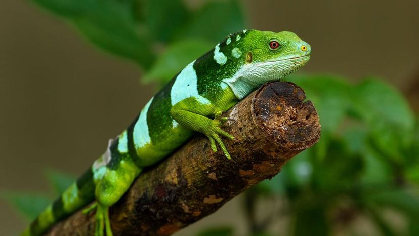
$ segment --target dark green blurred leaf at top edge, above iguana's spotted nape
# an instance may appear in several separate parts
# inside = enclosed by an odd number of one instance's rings
[[[177,38],[198,37],[216,43],[244,28],[244,15],[237,0],[211,1],[194,13]]]

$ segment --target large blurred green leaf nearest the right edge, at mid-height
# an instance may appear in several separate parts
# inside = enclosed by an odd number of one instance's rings
[[[367,79],[354,91],[355,112],[366,122],[372,143],[384,158],[405,162],[413,139],[414,116],[403,96],[379,80]]]

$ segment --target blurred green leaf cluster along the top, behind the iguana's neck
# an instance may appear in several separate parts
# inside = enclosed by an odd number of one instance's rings
[[[206,1],[198,9],[182,0],[32,1],[97,47],[134,61],[146,73],[145,82],[160,86],[226,35],[245,28],[237,0]]]

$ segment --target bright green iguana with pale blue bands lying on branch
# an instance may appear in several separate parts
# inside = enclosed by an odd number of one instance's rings
[[[96,236],[111,236],[108,209],[144,167],[171,154],[195,132],[204,134],[231,159],[221,137],[234,139],[221,117],[250,92],[298,70],[311,47],[295,33],[242,30],[228,35],[175,75],[141,110],[134,122],[110,140],[104,154],[50,204],[22,236],[38,236],[54,223],[96,200]]]

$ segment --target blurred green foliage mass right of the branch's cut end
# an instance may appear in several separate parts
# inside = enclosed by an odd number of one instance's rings
[[[382,235],[405,235],[384,217],[389,209],[405,218],[407,235],[419,235],[419,129],[400,92],[375,78],[356,85],[337,76],[297,74],[286,80],[313,101],[322,137],[278,176],[245,194],[253,201],[285,202],[281,208],[291,219],[285,235],[332,235],[361,216]]]

